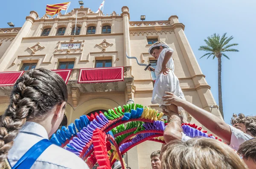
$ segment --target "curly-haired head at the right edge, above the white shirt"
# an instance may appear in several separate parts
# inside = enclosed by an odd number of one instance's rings
[[[245,116],[239,113],[238,117],[231,118],[231,124],[242,132],[256,137],[256,116]]]

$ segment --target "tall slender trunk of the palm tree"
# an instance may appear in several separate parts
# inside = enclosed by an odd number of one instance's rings
[[[218,56],[218,100],[219,100],[219,110],[222,117],[223,114],[223,104],[222,104],[222,90],[221,90],[221,56]]]

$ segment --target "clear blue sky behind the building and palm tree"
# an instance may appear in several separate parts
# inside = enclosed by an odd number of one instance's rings
[[[0,7],[0,28],[7,28],[7,22],[21,27],[29,11],[37,11],[39,16],[43,16],[46,4],[61,2],[68,1],[5,0]],[[68,11],[79,8],[77,0],[71,2]],[[97,11],[101,3],[102,0],[84,0],[84,6],[93,11]],[[230,123],[233,113],[256,115],[256,0],[106,0],[104,13],[116,11],[120,14],[122,6],[129,7],[131,21],[140,20],[140,15],[146,15],[146,21],[168,20],[171,15],[179,17],[180,23],[186,26],[186,36],[217,103],[218,62],[210,58],[199,59],[204,52],[198,48],[213,33],[233,35],[232,42],[239,43],[235,48],[240,52],[227,53],[230,60],[222,59],[224,119]]]

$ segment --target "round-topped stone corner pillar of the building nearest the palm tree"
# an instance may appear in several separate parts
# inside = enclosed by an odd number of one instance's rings
[[[169,20],[170,23],[174,25],[175,36],[180,45],[181,52],[185,59],[186,65],[188,66],[189,73],[198,92],[198,96],[201,100],[202,106],[205,110],[210,112],[210,106],[216,105],[216,102],[212,96],[210,86],[207,84],[205,76],[203,75],[202,70],[198,65],[189,41],[186,38],[183,30],[184,25],[182,23],[179,23],[177,16],[171,16],[169,17]],[[223,119],[218,109],[212,109],[212,113]]]

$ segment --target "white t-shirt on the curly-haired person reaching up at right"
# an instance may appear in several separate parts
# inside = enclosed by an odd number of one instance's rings
[[[239,149],[239,146],[247,140],[252,139],[253,137],[242,132],[241,130],[237,129],[236,127],[233,127],[231,125],[230,130],[232,132],[231,140],[230,140],[230,147],[235,149],[236,151]]]

